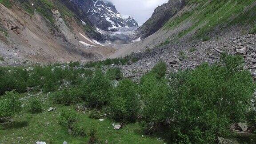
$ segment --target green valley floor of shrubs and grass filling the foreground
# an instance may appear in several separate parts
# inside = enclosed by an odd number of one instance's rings
[[[136,60],[119,61],[0,67],[0,143],[256,142],[242,56],[168,74],[159,61],[138,83],[118,68]]]

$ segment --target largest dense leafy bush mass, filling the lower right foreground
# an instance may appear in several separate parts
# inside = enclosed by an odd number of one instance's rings
[[[171,74],[169,86],[149,72],[141,79],[142,124],[149,132],[167,128],[172,143],[213,143],[227,136],[230,124],[246,121],[255,89],[243,64],[240,56],[222,56],[212,66]]]

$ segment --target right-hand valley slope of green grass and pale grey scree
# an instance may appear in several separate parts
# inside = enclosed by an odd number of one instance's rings
[[[157,8],[158,9],[158,8]],[[238,30],[251,31],[256,24],[255,0],[190,0],[176,12],[163,26],[143,41],[127,45],[120,49],[121,53],[130,53],[137,50],[153,48],[156,45],[169,41],[169,43],[183,43],[191,40],[200,40],[215,36],[232,27]],[[160,24],[160,25],[161,25]],[[147,23],[141,29],[150,29]],[[140,32],[140,30],[138,32]],[[237,30],[237,29],[236,29]],[[146,32],[146,31],[145,31]],[[143,34],[139,35],[143,36]],[[117,52],[119,53],[119,52]]]

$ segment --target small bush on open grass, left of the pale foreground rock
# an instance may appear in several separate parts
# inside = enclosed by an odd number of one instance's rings
[[[67,129],[73,128],[78,121],[77,113],[74,109],[62,109],[60,112],[59,123]]]

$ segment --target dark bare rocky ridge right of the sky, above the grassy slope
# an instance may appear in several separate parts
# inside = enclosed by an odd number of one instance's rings
[[[185,6],[185,0],[169,0],[168,3],[158,6],[151,18],[148,19],[138,30],[136,36],[146,38],[158,31],[166,21],[172,18]]]

